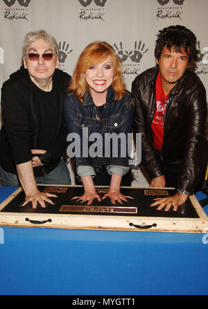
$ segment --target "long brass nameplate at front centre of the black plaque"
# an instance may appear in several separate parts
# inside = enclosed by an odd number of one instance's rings
[[[137,207],[62,205],[60,211],[83,213],[137,213]]]

